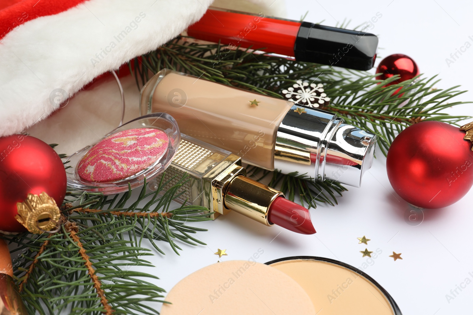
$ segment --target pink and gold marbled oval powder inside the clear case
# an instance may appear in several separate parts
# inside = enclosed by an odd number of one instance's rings
[[[82,157],[79,176],[99,183],[125,179],[161,158],[168,144],[168,136],[159,129],[120,131],[94,145]]]

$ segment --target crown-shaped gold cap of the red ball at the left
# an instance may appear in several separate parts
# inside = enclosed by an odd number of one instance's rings
[[[53,230],[61,218],[56,202],[45,192],[28,194],[24,202],[17,203],[17,209],[15,219],[33,234]]]

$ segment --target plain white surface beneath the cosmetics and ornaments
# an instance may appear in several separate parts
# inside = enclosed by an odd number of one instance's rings
[[[288,18],[298,20],[308,10],[306,21],[325,20],[323,24],[328,26],[335,26],[347,18],[351,19],[350,26],[355,27],[379,12],[382,17],[368,32],[379,36],[380,57],[407,54],[416,60],[425,76],[439,75],[442,81],[438,88],[454,85],[471,88],[473,47],[450,67],[445,61],[466,41],[473,44],[473,5],[470,1],[290,0],[286,6]],[[127,82],[129,86],[134,84],[131,80]],[[116,88],[113,82],[111,84],[112,90]],[[138,96],[128,94],[127,97],[135,98],[133,102],[136,102]],[[75,99],[78,98],[79,94]],[[472,101],[473,93],[465,93],[457,100]],[[464,104],[448,109],[448,113],[473,115],[473,110],[470,104]],[[67,121],[70,123],[73,122]],[[57,140],[58,133],[51,132],[55,126],[49,124],[49,134],[41,138],[61,143]],[[44,135],[39,129],[36,134]],[[169,291],[188,274],[216,263],[219,257],[213,253],[217,248],[227,249],[228,256],[223,256],[222,261],[246,260],[258,248],[264,250],[258,259],[261,263],[293,255],[323,256],[355,267],[370,263],[364,268],[365,272],[392,295],[404,315],[472,314],[473,283],[461,292],[458,290],[459,294],[450,303],[446,298],[446,294],[451,295],[450,290],[465,278],[473,281],[469,275],[469,272],[473,274],[472,199],[473,191],[470,191],[447,208],[424,210],[423,221],[412,226],[404,219],[405,213],[412,208],[394,193],[386,176],[385,158],[377,152],[377,159],[365,174],[361,188],[350,188],[334,207],[323,204],[311,209],[317,230],[315,235],[300,235],[278,226],[268,228],[237,213],[230,213],[216,221],[194,224],[209,229],[197,234],[208,246],[183,244],[184,250],[181,256],[177,256],[166,243],[159,243],[166,255],[156,252],[156,255],[149,256],[157,268],[148,268],[147,271],[160,277],[156,284]],[[363,235],[371,239],[368,246],[358,244],[357,237]],[[379,249],[382,254],[373,260],[362,258],[359,251],[365,247],[370,251]],[[393,251],[402,253],[403,260],[394,262],[388,257]]]

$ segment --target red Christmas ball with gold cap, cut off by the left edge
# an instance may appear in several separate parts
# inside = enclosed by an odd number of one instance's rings
[[[28,194],[38,195],[30,196],[30,199],[36,204],[41,203],[39,210],[35,210],[35,216],[43,221],[40,226],[46,226],[44,220],[48,218],[47,213],[53,207],[53,201],[61,206],[66,185],[64,165],[51,146],[28,135],[0,138],[0,230],[26,230],[15,217],[18,214],[17,203],[25,202]],[[29,208],[30,204],[25,203],[25,208]],[[57,219],[57,216],[54,218]],[[36,222],[30,224],[35,225]]]

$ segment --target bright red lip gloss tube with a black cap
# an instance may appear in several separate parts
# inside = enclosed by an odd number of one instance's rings
[[[297,61],[356,70],[373,67],[378,44],[377,36],[370,33],[219,8],[208,9],[189,26],[187,35],[231,49],[251,47]]]

